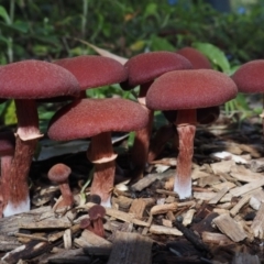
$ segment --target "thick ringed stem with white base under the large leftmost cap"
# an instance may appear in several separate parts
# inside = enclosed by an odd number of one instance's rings
[[[8,199],[4,217],[30,210],[28,175],[38,138],[42,136],[35,101],[15,100],[15,108],[18,132],[10,175],[4,187],[4,197]]]

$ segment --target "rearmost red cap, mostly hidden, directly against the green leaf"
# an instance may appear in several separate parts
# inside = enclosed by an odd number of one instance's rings
[[[178,50],[176,53],[186,57],[193,64],[194,69],[212,68],[209,59],[194,47],[184,47]]]

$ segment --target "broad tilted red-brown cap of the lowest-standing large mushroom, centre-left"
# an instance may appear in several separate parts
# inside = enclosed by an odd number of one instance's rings
[[[50,122],[48,136],[67,141],[110,131],[134,131],[147,123],[147,111],[121,98],[81,99],[58,110]]]

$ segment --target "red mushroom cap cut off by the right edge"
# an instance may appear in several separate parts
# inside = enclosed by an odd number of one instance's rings
[[[243,64],[232,79],[241,92],[264,92],[264,59]]]

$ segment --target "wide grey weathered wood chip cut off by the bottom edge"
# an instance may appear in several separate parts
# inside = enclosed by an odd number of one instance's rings
[[[152,240],[138,233],[116,233],[108,264],[151,264]]]

